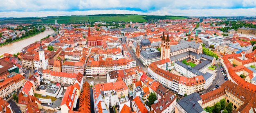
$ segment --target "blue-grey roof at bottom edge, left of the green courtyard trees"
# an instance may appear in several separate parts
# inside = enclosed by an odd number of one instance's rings
[[[202,98],[198,93],[192,93],[177,102],[187,113],[201,113],[204,109],[198,103]]]

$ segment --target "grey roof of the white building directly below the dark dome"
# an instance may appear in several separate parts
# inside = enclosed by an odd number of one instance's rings
[[[161,52],[159,52],[155,48],[146,48],[146,50],[141,50],[140,51],[140,55],[144,59],[152,59],[152,58],[160,57]]]

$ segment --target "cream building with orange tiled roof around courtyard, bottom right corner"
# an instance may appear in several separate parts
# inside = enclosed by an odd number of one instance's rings
[[[214,106],[214,104],[225,98],[227,103],[232,103],[233,109],[238,113],[255,112],[253,108],[255,108],[254,102],[256,100],[252,98],[255,97],[255,92],[229,80],[220,85],[220,88],[205,93],[200,97],[202,98],[202,108]]]

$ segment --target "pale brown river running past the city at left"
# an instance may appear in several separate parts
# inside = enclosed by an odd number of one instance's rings
[[[48,35],[51,35],[52,33],[54,33],[54,30],[52,30],[52,29],[45,30],[43,33],[40,33],[33,37],[2,46],[2,47],[0,47],[0,55],[2,55],[4,53],[16,54],[18,52],[21,52],[22,48],[24,48],[24,47],[28,46],[29,44],[34,43],[36,41],[40,41],[40,39],[43,39],[44,37],[47,37]]]

